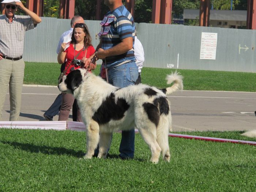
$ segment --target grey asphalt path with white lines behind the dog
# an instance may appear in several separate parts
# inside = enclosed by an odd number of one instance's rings
[[[20,121],[45,121],[44,112],[60,91],[54,86],[23,86]],[[230,131],[256,129],[256,93],[233,91],[177,91],[170,95],[174,131]],[[6,95],[2,121],[10,114]],[[72,114],[72,113],[71,113]],[[72,121],[72,116],[69,120]],[[58,115],[53,118],[58,120]]]

